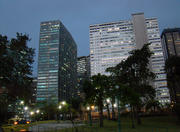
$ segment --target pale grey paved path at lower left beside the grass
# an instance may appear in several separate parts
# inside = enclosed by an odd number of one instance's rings
[[[76,124],[76,126],[81,126],[83,124]],[[38,124],[29,128],[31,132],[45,132],[45,131],[56,131],[63,128],[72,128],[73,125],[71,123],[46,123],[46,124]]]

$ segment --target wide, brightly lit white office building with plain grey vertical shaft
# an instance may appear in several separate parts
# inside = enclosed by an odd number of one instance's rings
[[[116,66],[129,56],[129,52],[151,43],[154,54],[150,68],[157,75],[153,82],[157,99],[169,102],[164,57],[157,18],[145,18],[144,13],[132,14],[131,20],[90,25],[91,76],[108,75],[106,68]]]

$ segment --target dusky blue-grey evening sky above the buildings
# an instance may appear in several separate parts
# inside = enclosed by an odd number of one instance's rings
[[[90,24],[128,20],[137,12],[157,17],[160,31],[180,27],[180,0],[0,0],[0,34],[9,38],[16,32],[29,34],[29,45],[36,49],[36,76],[41,21],[61,20],[82,56],[89,54]]]

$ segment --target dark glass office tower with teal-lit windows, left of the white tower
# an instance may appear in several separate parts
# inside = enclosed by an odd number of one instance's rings
[[[59,21],[41,22],[37,102],[69,100],[77,85],[77,46]]]

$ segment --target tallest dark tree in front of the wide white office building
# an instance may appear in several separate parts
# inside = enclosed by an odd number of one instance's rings
[[[141,121],[138,113],[142,104],[155,96],[155,90],[150,85],[155,74],[149,69],[149,59],[152,55],[149,45],[145,44],[142,49],[131,51],[126,60],[107,69],[115,77],[116,83],[121,83],[126,87],[121,90],[121,101],[130,104],[132,119],[136,114],[139,124]]]

